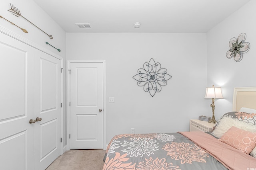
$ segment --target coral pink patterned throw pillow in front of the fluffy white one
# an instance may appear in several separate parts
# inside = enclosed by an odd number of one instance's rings
[[[232,126],[219,140],[244,153],[250,154],[256,145],[256,133]]]

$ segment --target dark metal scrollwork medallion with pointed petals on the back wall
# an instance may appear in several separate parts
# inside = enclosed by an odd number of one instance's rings
[[[161,68],[160,63],[150,59],[148,63],[143,64],[143,68],[138,69],[138,74],[133,78],[138,81],[138,86],[143,86],[144,91],[153,97],[156,92],[162,90],[162,86],[166,86],[166,81],[172,76],[167,74],[166,68]]]

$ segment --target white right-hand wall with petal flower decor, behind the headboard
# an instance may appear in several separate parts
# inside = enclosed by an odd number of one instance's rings
[[[207,33],[207,72],[208,86],[222,87],[224,99],[215,102],[216,119],[232,111],[234,87],[256,86],[256,1],[251,0]],[[232,37],[246,33],[250,50],[240,62],[228,59],[226,52]]]

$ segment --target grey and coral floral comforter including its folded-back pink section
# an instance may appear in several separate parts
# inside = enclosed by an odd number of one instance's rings
[[[225,116],[238,119],[237,114]],[[247,168],[256,169],[256,158],[200,131],[116,135],[106,150],[103,170]]]

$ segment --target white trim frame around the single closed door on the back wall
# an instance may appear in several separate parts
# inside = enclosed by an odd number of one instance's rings
[[[106,150],[106,60],[67,60],[67,150],[70,150],[70,63],[102,63],[103,64],[103,149]]]

